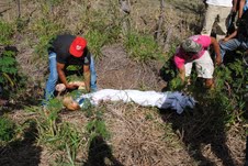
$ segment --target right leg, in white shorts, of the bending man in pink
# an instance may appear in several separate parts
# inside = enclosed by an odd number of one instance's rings
[[[206,88],[213,87],[213,74],[214,74],[214,63],[206,51],[202,57],[195,59],[198,77],[205,79]]]

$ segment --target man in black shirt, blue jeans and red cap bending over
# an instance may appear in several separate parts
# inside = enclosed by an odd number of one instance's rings
[[[58,80],[65,85],[67,89],[77,89],[78,85],[68,84],[65,69],[68,65],[82,66],[86,90],[97,91],[97,74],[94,70],[94,62],[87,47],[87,41],[80,36],[70,34],[58,35],[48,49],[49,57],[49,77],[45,88],[45,101],[54,97],[55,86]]]

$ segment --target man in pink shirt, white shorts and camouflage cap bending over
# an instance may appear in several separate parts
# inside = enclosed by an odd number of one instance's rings
[[[207,51],[211,45],[216,54],[215,63],[219,65],[222,63],[219,45],[214,37],[193,35],[184,40],[177,48],[173,59],[182,82],[185,81],[185,77],[190,76],[192,65],[195,64],[198,77],[205,79],[206,88],[213,88],[214,64]]]

